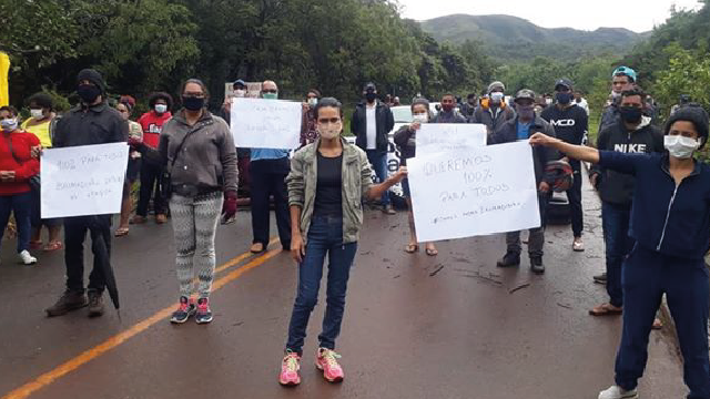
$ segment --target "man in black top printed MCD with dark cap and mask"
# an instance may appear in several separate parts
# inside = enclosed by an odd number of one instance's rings
[[[567,79],[560,79],[555,83],[556,103],[546,108],[540,117],[549,122],[555,127],[557,137],[566,143],[580,145],[587,134],[589,120],[587,111],[578,106],[572,101],[572,83]],[[567,191],[567,200],[572,218],[572,249],[576,252],[585,250],[581,241],[581,232],[584,228],[584,217],[581,208],[581,163],[577,160],[569,161],[574,171],[574,183],[571,188]]]

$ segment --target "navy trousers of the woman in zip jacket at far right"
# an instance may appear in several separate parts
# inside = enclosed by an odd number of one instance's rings
[[[666,294],[683,356],[688,399],[710,399],[708,308],[710,289],[704,260],[663,255],[636,245],[623,263],[623,330],[616,382],[633,389],[643,375],[656,310]]]

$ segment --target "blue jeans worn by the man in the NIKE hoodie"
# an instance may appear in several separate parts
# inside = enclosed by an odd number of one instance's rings
[[[609,303],[623,306],[621,289],[621,265],[633,248],[633,238],[629,237],[631,205],[601,203],[601,228],[607,256],[607,293]]]

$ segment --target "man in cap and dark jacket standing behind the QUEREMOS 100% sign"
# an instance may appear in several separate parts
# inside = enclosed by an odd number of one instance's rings
[[[490,144],[513,143],[518,140],[528,140],[532,134],[541,132],[555,137],[555,129],[545,120],[535,115],[535,92],[528,89],[520,90],[515,96],[518,110],[515,119],[505,122],[489,136]],[[528,238],[528,255],[530,256],[530,269],[535,274],[545,273],[542,264],[542,248],[545,246],[545,211],[551,182],[546,180],[545,168],[550,161],[559,160],[559,154],[551,147],[534,147],[532,162],[535,166],[535,182],[538,186],[538,205],[540,209],[541,226],[530,228]],[[498,267],[511,267],[520,265],[520,232],[506,233],[507,250],[498,260]]]

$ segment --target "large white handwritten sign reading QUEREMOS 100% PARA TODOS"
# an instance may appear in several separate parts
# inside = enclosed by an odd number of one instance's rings
[[[527,141],[417,154],[407,168],[420,242],[540,226]]]

